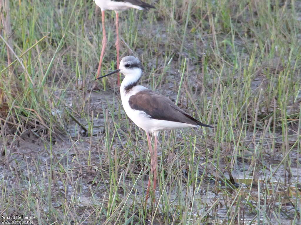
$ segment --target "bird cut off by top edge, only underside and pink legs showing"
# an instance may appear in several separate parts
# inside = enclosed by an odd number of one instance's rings
[[[100,53],[100,58],[99,58],[99,63],[98,63],[98,69],[97,69],[97,74],[96,78],[99,77],[100,74],[100,69],[101,69],[101,63],[102,59],[104,57],[104,50],[106,49],[107,46],[107,38],[106,38],[106,30],[104,28],[104,11],[105,10],[114,10],[116,13],[116,21],[115,21],[115,26],[116,26],[116,51],[117,51],[117,68],[119,68],[119,32],[118,32],[118,11],[123,11],[129,8],[135,8],[139,10],[144,10],[148,8],[155,8],[154,6],[147,4],[143,1],[140,0],[94,0],[95,4],[101,8],[101,20],[102,20],[102,47],[101,47],[101,53]],[[117,85],[120,85],[120,78],[119,78],[119,73],[117,73]],[[97,85],[92,89],[97,89]]]

